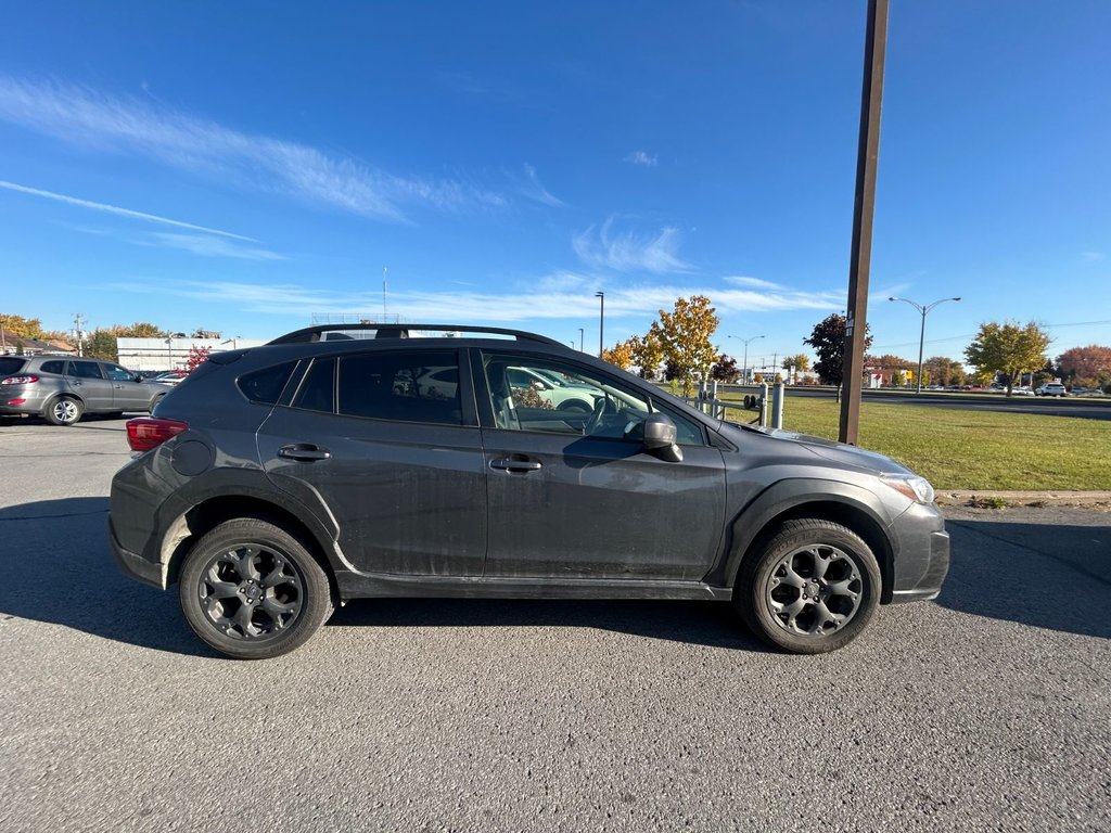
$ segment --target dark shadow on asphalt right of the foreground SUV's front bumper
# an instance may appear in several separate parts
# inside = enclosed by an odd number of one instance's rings
[[[1111,526],[948,520],[953,560],[938,604],[1111,639]]]

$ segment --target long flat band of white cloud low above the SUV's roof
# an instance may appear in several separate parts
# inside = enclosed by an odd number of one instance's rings
[[[391,312],[410,321],[452,321],[458,323],[496,323],[524,320],[590,319],[598,312],[592,293],[581,291],[579,284],[560,288],[560,282],[572,275],[560,273],[550,279],[530,282],[530,289],[516,293],[484,293],[472,291],[391,292]],[[591,285],[600,285],[591,279]],[[131,292],[150,292],[149,281],[118,283],[113,289]],[[160,281],[157,291],[163,295],[203,299],[213,304],[227,304],[252,313],[304,315],[312,312],[346,312],[377,310],[381,295],[377,292],[342,293],[309,289],[299,284],[262,285],[241,282],[178,282]],[[654,317],[661,309],[670,309],[679,297],[708,295],[719,313],[752,313],[775,310],[837,310],[844,305],[843,293],[797,292],[781,290],[763,292],[711,285],[708,283],[680,285],[639,284],[605,290],[605,314]]]

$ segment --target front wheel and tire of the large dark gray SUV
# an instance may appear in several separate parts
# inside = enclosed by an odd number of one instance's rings
[[[741,564],[733,604],[764,642],[792,653],[835,651],[868,625],[880,601],[868,544],[832,521],[787,521]]]

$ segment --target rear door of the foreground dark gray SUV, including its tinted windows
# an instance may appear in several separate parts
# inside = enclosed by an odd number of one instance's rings
[[[482,574],[482,438],[459,369],[458,350],[321,355],[260,428],[271,480],[323,500],[356,570]]]

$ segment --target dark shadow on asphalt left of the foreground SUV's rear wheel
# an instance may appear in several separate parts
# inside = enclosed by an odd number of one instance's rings
[[[0,616],[72,628],[157,651],[216,656],[173,592],[124,578],[108,545],[108,499],[0,508]]]

